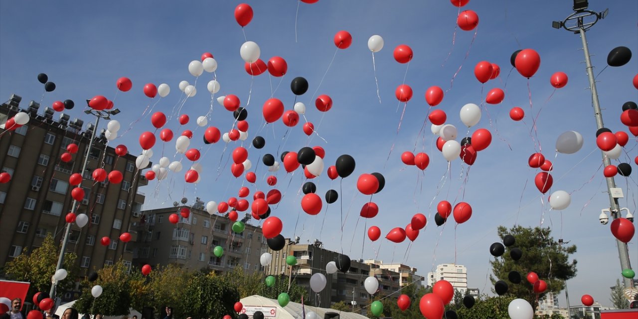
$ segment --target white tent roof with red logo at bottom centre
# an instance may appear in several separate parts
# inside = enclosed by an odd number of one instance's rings
[[[279,306],[279,302],[274,299],[269,299],[266,297],[262,297],[260,295],[251,295],[246,298],[242,298],[241,300],[244,309],[242,312],[245,312],[248,315],[248,318],[252,318],[251,315],[255,313],[255,311],[262,311],[263,317],[265,319],[302,319],[302,308],[301,304],[297,302],[288,302],[285,307]],[[311,306],[304,306],[306,310],[306,314],[309,311],[315,311],[319,318],[323,318],[323,315],[327,312],[339,313],[339,319],[367,319],[366,316],[359,315],[358,313],[348,313],[345,311],[338,311],[335,309],[327,309],[327,308],[316,308]]]

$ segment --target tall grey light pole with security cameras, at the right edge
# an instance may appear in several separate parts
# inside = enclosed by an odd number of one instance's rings
[[[600,130],[601,128],[604,128],[604,124],[602,122],[600,104],[598,103],[598,91],[596,89],[596,81],[593,75],[593,66],[591,66],[590,50],[587,45],[587,38],[585,36],[585,33],[588,29],[590,29],[590,27],[593,27],[594,24],[598,22],[598,20],[605,19],[605,17],[607,17],[607,12],[609,12],[609,9],[605,9],[605,11],[597,13],[587,10],[587,6],[588,1],[586,0],[574,0],[574,13],[569,15],[563,21],[554,21],[552,23],[552,27],[556,29],[560,29],[561,27],[563,27],[567,31],[573,32],[575,34],[581,34],[582,50],[585,54],[585,63],[587,66],[585,70],[587,71],[587,76],[590,80],[591,101],[594,108],[596,126],[598,130]],[[611,161],[607,156],[605,156],[605,153],[601,151],[601,154],[602,161],[605,167],[611,165]],[[621,189],[616,188],[614,177],[605,177],[605,179],[607,181],[607,193],[609,195],[609,211],[611,212],[612,219],[616,219],[620,217],[618,198],[622,197],[622,191]],[[617,195],[618,191],[620,195]],[[616,239],[616,246],[618,247],[618,256],[620,259],[621,271],[623,269],[631,269],[627,244]],[[623,277],[623,283],[625,285],[625,289],[633,287],[632,279],[630,278]]]

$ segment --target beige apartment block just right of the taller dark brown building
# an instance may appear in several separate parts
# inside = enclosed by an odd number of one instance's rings
[[[250,215],[242,220],[245,229],[238,234],[232,230],[233,221],[218,214],[211,216],[199,198],[193,205],[184,205],[186,202],[184,198],[174,207],[142,211],[142,219],[133,225],[140,234],[137,242],[131,243],[135,265],[173,263],[215,271],[240,266],[244,271],[260,271],[260,256],[268,247],[262,228],[249,224]],[[179,217],[176,224],[170,222],[172,214]],[[217,246],[223,248],[221,257],[214,255]]]

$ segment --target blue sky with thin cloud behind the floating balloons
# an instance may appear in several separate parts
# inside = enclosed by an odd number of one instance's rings
[[[570,1],[516,4],[470,1],[463,9],[474,10],[479,15],[476,38],[472,41],[474,31],[456,29],[454,45],[457,8],[448,1],[322,0],[315,4],[300,3],[299,8],[295,1],[248,3],[255,17],[244,28],[246,38],[258,43],[264,61],[273,56],[286,60],[288,72],[283,78],[269,77],[267,73],[251,78],[244,71],[244,61],[239,56],[244,34],[233,15],[239,4],[236,1],[3,1],[0,3],[0,97],[8,100],[10,94],[18,94],[23,97],[22,107],[26,107],[29,100],[50,106],[53,101],[71,99],[76,103],[68,112],[71,118],[90,122],[93,120],[82,113],[83,100],[98,94],[110,100],[117,96],[115,107],[122,111],[117,115],[122,124],[121,132],[127,130],[131,122],[138,119],[140,122],[112,145],[126,144],[133,154],[141,151],[137,143],[140,133],[154,130],[150,116],[140,119],[149,105],[154,105],[153,112],[169,115],[165,127],[174,130],[176,135],[184,129],[193,130],[195,137],[191,147],[201,148],[203,155],[200,160],[204,166],[202,181],[186,185],[184,170],[170,174],[159,184],[150,182],[140,189],[146,193],[145,208],[171,205],[182,197],[192,200],[197,196],[206,202],[221,202],[237,197],[242,185],[251,189],[251,197],[256,190],[267,192],[272,187],[265,183],[263,154],[279,158],[278,152],[320,145],[326,151],[326,168],[334,165],[341,154],[350,154],[357,162],[355,172],[343,179],[341,185],[339,179],[330,181],[325,172],[314,180],[322,198],[330,188],[339,190],[341,186],[343,189],[339,202],[329,205],[327,211],[324,202],[317,216],[309,216],[300,209],[302,172],[286,174],[282,167],[274,173],[279,179],[275,187],[284,197],[273,214],[283,219],[286,237],[299,235],[302,242],[320,238],[326,248],[343,250],[352,258],[373,258],[378,252],[377,259],[412,265],[424,276],[439,263],[456,261],[468,267],[471,287],[489,292],[486,279],[491,258],[489,245],[498,241],[496,227],[512,226],[516,222],[523,226],[549,226],[554,238],[562,238],[578,247],[574,255],[578,260],[578,274],[568,282],[572,304],[579,304],[584,293],[593,295],[601,304],[611,303],[607,287],[620,278],[621,269],[609,225],[598,225],[597,220],[600,209],[609,207],[609,202],[604,193],[600,152],[595,145],[596,127],[591,95],[586,90],[588,80],[582,63],[581,40],[575,34],[551,28],[552,20],[561,20],[570,14]],[[609,17],[587,33],[596,74],[606,65],[607,53],[612,48],[623,45],[634,54],[638,52],[635,15],[638,4],[590,1],[590,8],[595,11],[602,11],[606,6],[609,6]],[[352,45],[346,50],[337,50],[332,42],[339,30],[352,34]],[[373,34],[380,34],[385,41],[383,50],[375,54],[382,103],[376,95],[373,58],[367,49],[367,40]],[[409,45],[414,52],[407,71],[407,64],[399,64],[392,57],[392,50],[400,44]],[[529,81],[529,91],[528,80],[512,70],[509,63],[512,52],[522,48],[533,48],[541,57],[540,69]],[[204,52],[211,52],[219,67],[215,75],[204,73],[196,79],[189,74],[188,64]],[[500,77],[481,85],[473,69],[484,60],[500,65],[501,73]],[[461,70],[450,85],[459,67]],[[549,77],[556,71],[567,73],[569,82],[554,92]],[[638,91],[631,84],[637,71],[634,57],[621,68],[607,68],[597,78],[605,126],[612,131],[627,131],[619,115],[625,101],[638,100]],[[56,91],[43,94],[43,87],[36,79],[38,73],[47,73],[57,84]],[[228,161],[228,155],[242,145],[241,141],[204,145],[204,129],[194,122],[211,107],[206,84],[214,76],[221,84],[221,91],[215,97],[235,94],[242,107],[248,109],[249,138],[243,145],[248,148],[256,135],[266,139],[263,149],[249,149],[249,159],[258,176],[254,185],[230,174],[232,162]],[[306,118],[315,124],[323,139],[306,137],[301,124],[287,132],[281,121],[262,128],[264,101],[273,96],[283,101],[286,110],[292,109],[295,96],[290,92],[290,81],[299,76],[308,80],[309,90],[297,101],[306,104]],[[117,93],[115,81],[119,77],[131,78],[133,89]],[[182,80],[190,84],[197,81],[197,95],[185,102],[178,88]],[[403,82],[412,87],[414,96],[406,105],[397,133],[403,103],[396,100],[394,91]],[[161,100],[158,97],[151,100],[142,93],[146,83],[166,83],[171,92]],[[466,103],[480,105],[487,91],[494,87],[505,89],[503,103],[483,104],[481,121],[469,130],[471,135],[477,128],[487,128],[493,134],[491,146],[479,152],[469,171],[460,159],[452,161],[450,172],[447,171],[447,161],[434,144],[436,137],[431,134],[431,123],[427,122],[420,132],[429,108],[424,93],[432,85],[446,91],[437,108],[447,112],[447,123],[457,127],[457,140],[468,131],[459,120],[460,108]],[[334,101],[332,109],[325,114],[314,107],[313,97],[318,94],[328,94]],[[182,102],[181,113],[191,117],[186,126],[179,126],[177,118],[170,116],[175,105]],[[514,106],[525,110],[524,121],[509,119],[508,112]],[[212,108],[209,125],[228,131],[233,123],[232,114],[216,102]],[[533,185],[537,170],[526,165],[528,156],[537,151],[529,132],[531,114],[539,111],[537,140],[545,157],[554,163],[551,191],[562,189],[572,193],[572,204],[561,212],[549,211],[546,204],[545,209],[542,207],[540,193]],[[556,156],[556,138],[569,130],[582,134],[584,146],[575,154]],[[536,135],[534,137],[536,139]],[[174,140],[162,144],[158,139],[153,148],[154,163],[161,156],[168,156],[182,160],[188,168],[188,159],[182,159],[181,154],[175,156]],[[638,154],[636,146],[632,138],[620,159],[632,163]],[[401,163],[401,153],[413,150],[429,155],[431,163],[425,172]],[[625,193],[621,207],[635,213],[636,168],[632,166],[632,177],[618,177],[616,184]],[[381,172],[386,184],[383,191],[373,196],[380,213],[368,220],[367,226],[380,226],[385,235],[393,227],[407,225],[416,212],[428,217],[426,230],[422,230],[408,254],[405,253],[407,242],[394,244],[383,239],[374,244],[366,239],[362,249],[366,221],[358,217],[358,212],[370,198],[357,191],[356,182],[360,174],[371,172]],[[464,182],[466,176],[468,179]],[[551,191],[545,195],[545,203]],[[472,218],[456,228],[451,222],[437,228],[433,220],[436,204],[440,200],[459,202],[461,198],[473,207]],[[347,216],[343,236],[338,226],[341,206],[344,218]],[[381,241],[383,244],[379,246]],[[629,248],[635,267],[638,263],[635,238]],[[561,306],[565,306],[563,301],[561,295]]]

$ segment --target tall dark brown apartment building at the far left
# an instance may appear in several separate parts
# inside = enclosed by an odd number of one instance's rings
[[[52,109],[47,107],[38,113],[40,104],[34,101],[28,108],[20,108],[20,100],[14,94],[0,105],[0,167],[11,175],[9,182],[0,184],[0,265],[25,249],[33,251],[47,234],[52,234],[56,242],[62,241],[65,216],[73,203],[70,193],[75,186],[70,185],[69,177],[74,173],[84,177],[79,185],[84,198],[78,202],[77,214],[87,214],[89,222],[82,228],[73,223],[66,251],[77,254],[82,269],[100,269],[120,259],[130,265],[130,246],[118,242],[118,238],[130,232],[135,240],[137,234],[130,225],[140,219],[144,203],[138,187],[147,184],[135,167],[135,156],[117,156],[103,133],[96,134],[88,150],[91,134],[98,130],[94,124],[83,130],[80,119],[70,121],[63,113],[54,120]],[[6,121],[20,111],[29,114],[29,122],[16,130],[6,130]],[[72,143],[78,145],[78,151],[65,163],[61,155]],[[80,172],[85,156],[89,158],[87,170]],[[122,182],[95,182],[92,172],[96,168],[118,170]],[[108,246],[100,244],[102,237],[110,238]]]

